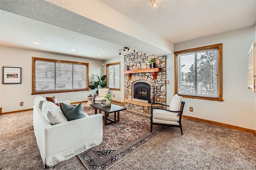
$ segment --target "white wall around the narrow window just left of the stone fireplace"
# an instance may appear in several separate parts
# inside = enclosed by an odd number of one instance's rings
[[[120,91],[117,90],[110,90],[110,95],[112,100],[124,102],[124,56],[114,57],[112,59],[105,60],[105,66],[109,63],[116,63],[120,62]],[[106,74],[106,67],[105,67],[105,74]],[[113,97],[115,95],[115,97]]]

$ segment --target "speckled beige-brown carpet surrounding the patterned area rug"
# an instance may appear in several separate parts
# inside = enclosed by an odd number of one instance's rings
[[[183,121],[184,135],[171,127],[110,169],[256,169],[254,134]],[[44,169],[33,131],[33,111],[0,115],[0,170]],[[84,170],[75,156],[49,169]]]

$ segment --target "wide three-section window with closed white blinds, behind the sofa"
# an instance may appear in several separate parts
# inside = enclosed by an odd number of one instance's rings
[[[88,63],[32,60],[32,94],[88,90]]]

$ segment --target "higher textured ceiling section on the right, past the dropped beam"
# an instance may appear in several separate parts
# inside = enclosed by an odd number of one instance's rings
[[[245,28],[256,22],[256,0],[156,0],[156,9],[149,0],[100,2],[173,43]]]

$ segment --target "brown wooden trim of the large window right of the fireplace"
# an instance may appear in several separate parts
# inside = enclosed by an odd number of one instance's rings
[[[184,53],[192,53],[192,52],[198,52],[202,50],[211,50],[211,49],[218,49],[219,50],[219,90],[220,95],[219,98],[210,98],[210,97],[198,97],[198,96],[188,96],[188,95],[180,95],[178,94],[178,55],[184,54]],[[214,45],[208,45],[204,47],[197,47],[192,49],[185,49],[182,51],[175,51],[174,52],[174,76],[175,76],[175,85],[174,85],[174,94],[178,94],[185,98],[192,98],[192,99],[203,99],[203,100],[211,100],[211,101],[223,101],[222,99],[222,43],[214,44]]]

